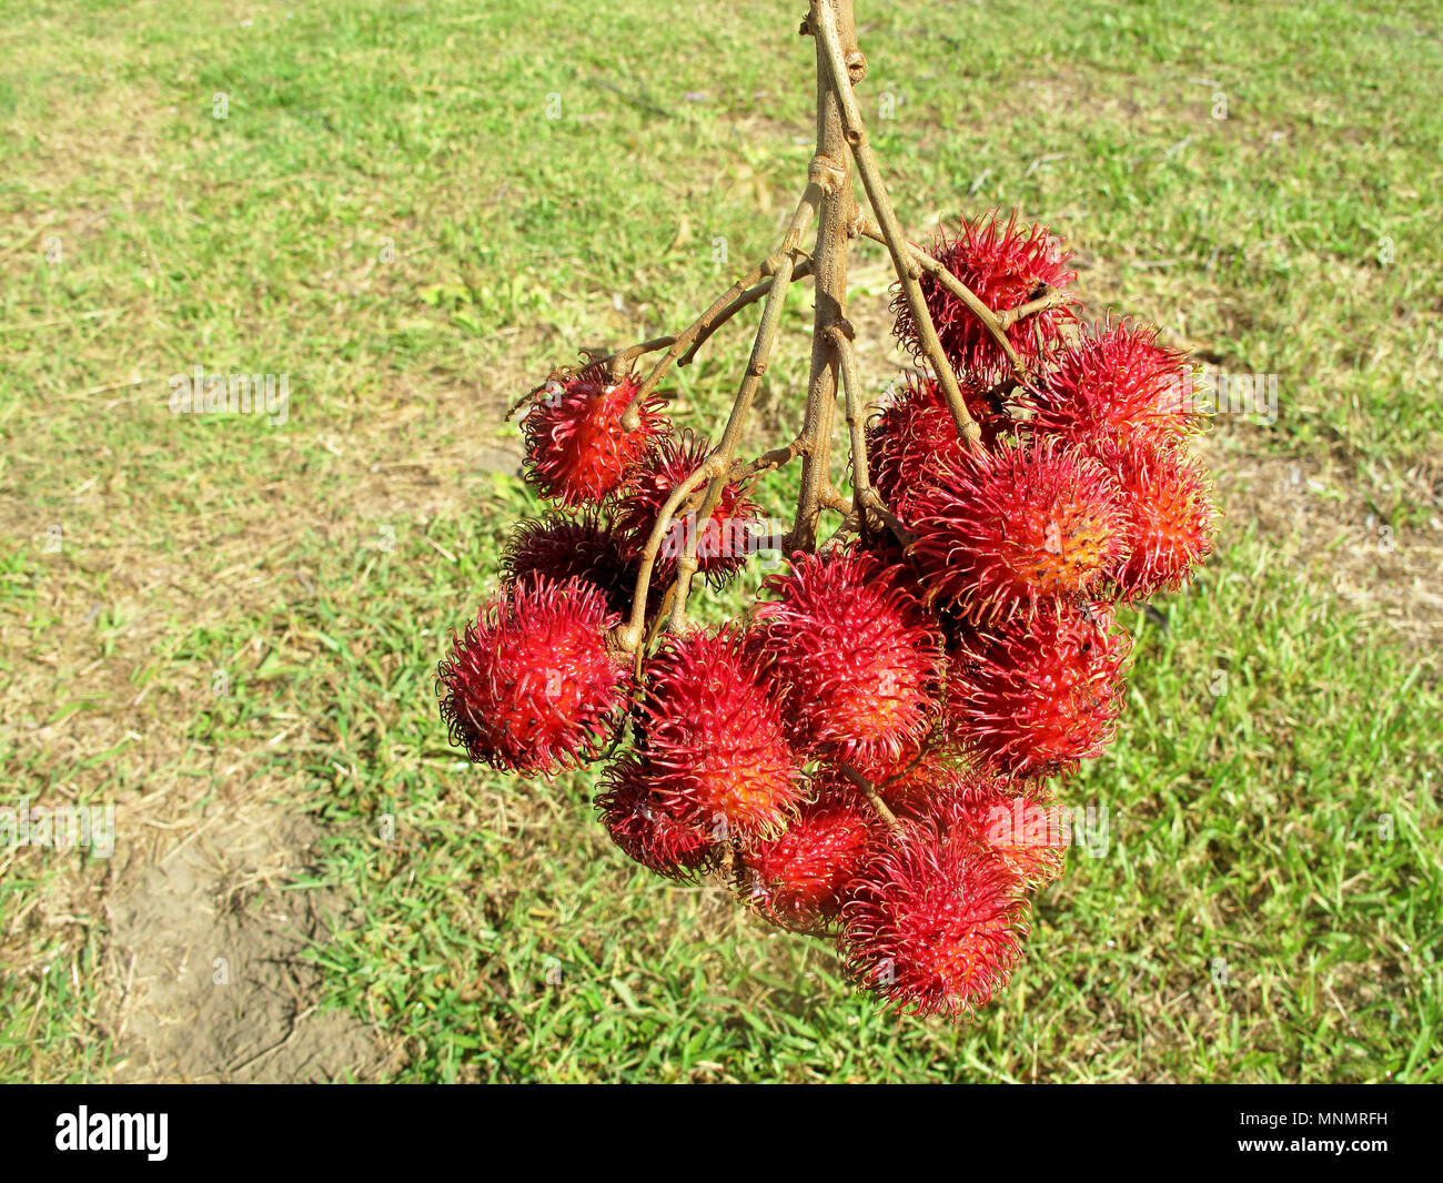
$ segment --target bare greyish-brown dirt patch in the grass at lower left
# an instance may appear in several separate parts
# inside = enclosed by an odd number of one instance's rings
[[[313,870],[316,827],[270,808],[214,814],[169,854],[133,854],[107,903],[111,1027],[124,1082],[374,1079],[380,1033],[315,1003],[345,902],[286,890]]]

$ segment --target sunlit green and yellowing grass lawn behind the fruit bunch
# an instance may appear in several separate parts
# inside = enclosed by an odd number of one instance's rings
[[[1375,545],[1440,541],[1433,6],[859,3],[913,235],[1017,205],[1095,310],[1278,377],[1276,424],[1219,418],[1219,553],[1133,622],[1123,730],[1066,788],[1107,856],[994,1007],[879,1014],[828,951],[629,868],[586,776],[462,766],[434,710],[535,511],[508,400],[684,322],[791,209],[810,48],[775,3],[0,6],[4,782],[114,801],[128,850],[313,812],[297,890],[354,900],[317,1001],[398,1043],[395,1079],[1437,1079],[1439,607]],[[876,250],[857,277],[880,390]],[[743,336],[681,372],[696,426]],[[287,421],[172,415],[196,365],[289,375]],[[1293,463],[1326,467],[1302,505],[1229,480]],[[0,851],[0,1078],[117,1070],[124,868]]]

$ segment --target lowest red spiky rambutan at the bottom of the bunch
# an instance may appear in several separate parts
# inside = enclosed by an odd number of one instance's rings
[[[843,905],[851,977],[903,1014],[970,1014],[1006,985],[1027,933],[1023,884],[935,819],[879,843]]]

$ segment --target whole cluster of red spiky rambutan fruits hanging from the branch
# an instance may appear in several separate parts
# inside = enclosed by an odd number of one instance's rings
[[[631,858],[717,874],[768,922],[837,939],[887,1003],[957,1016],[1006,984],[1033,893],[1062,873],[1056,785],[1123,707],[1117,606],[1177,589],[1216,514],[1188,452],[1186,359],[1153,329],[1081,323],[1049,231],[984,216],[932,255],[1010,349],[924,277],[981,427],[970,447],[899,296],[919,365],[864,436],[890,529],[861,516],[857,537],[791,554],[746,619],[665,632],[681,551],[658,542],[697,529],[704,503],[703,528],[732,540],[759,509],[742,480],[706,501],[701,482],[662,521],[711,447],[635,375],[558,372],[522,423],[553,506],[517,527],[439,692],[470,759],[527,775],[603,760],[596,808]],[[696,571],[722,584],[746,550],[703,547]],[[642,643],[623,619],[645,622]]]

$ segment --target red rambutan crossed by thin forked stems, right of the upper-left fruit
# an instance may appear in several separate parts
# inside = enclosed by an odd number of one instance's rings
[[[706,440],[683,431],[680,439],[659,440],[641,460],[616,509],[616,532],[632,560],[639,558],[646,548],[657,518],[672,491],[701,467],[710,453],[711,447]],[[657,555],[654,581],[665,586],[677,577],[677,560],[687,545],[688,531],[696,529],[697,570],[713,586],[726,583],[746,566],[750,550],[747,540],[760,514],[742,485],[724,485],[704,527],[696,522],[694,515],[672,522]]]

